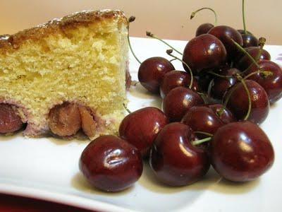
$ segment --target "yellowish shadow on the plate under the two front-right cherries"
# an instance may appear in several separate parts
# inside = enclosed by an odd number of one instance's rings
[[[154,176],[154,173],[149,167],[149,164],[146,163],[144,165],[142,177],[139,179],[138,183],[142,187],[145,187],[152,192],[161,194],[202,190],[210,190],[222,194],[243,194],[254,189],[259,183],[259,179],[252,182],[243,183],[230,182],[220,177],[211,167],[207,175],[205,175],[200,181],[195,182],[194,184],[190,184],[184,187],[170,187],[159,182]]]

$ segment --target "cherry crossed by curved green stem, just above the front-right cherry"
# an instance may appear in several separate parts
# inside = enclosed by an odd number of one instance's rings
[[[250,117],[247,120],[255,124],[261,124],[269,114],[269,100],[266,91],[255,81],[246,80],[245,83],[250,91],[252,102]],[[225,98],[230,92],[232,92],[232,94],[228,100],[227,107],[231,110],[236,119],[243,120],[249,107],[247,92],[242,83],[238,83],[235,87],[229,89]]]

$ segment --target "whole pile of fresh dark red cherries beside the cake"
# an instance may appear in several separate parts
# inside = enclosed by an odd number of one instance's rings
[[[264,174],[274,163],[274,149],[259,124],[269,105],[282,97],[282,71],[270,61],[264,42],[247,30],[205,23],[183,53],[174,49],[183,59],[167,51],[185,71],[175,70],[163,57],[140,62],[139,81],[161,95],[163,111],[145,107],[130,112],[119,137],[92,141],[80,158],[82,173],[107,192],[136,182],[142,158],[149,158],[157,179],[171,186],[196,182],[210,165],[234,182]]]

